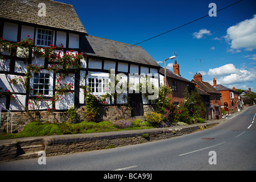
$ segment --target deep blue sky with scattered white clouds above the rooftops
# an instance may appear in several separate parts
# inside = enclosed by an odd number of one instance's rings
[[[55,1],[73,5],[89,35],[139,43],[162,67],[165,59],[177,55],[180,75],[187,80],[201,73],[211,85],[215,77],[217,84],[256,92],[255,0],[243,0],[224,10],[240,0]],[[221,10],[216,16],[212,16],[210,3]],[[160,36],[147,40],[156,35]],[[167,60],[171,71],[173,64],[174,60]]]

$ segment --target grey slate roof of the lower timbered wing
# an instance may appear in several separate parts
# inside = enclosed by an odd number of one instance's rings
[[[82,39],[82,50],[87,55],[160,67],[141,46],[134,46],[96,36],[84,36]]]

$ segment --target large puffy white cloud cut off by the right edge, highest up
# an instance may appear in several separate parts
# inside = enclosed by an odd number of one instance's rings
[[[252,19],[246,19],[229,27],[226,40],[231,41],[232,49],[245,48],[246,51],[256,49],[256,14]]]

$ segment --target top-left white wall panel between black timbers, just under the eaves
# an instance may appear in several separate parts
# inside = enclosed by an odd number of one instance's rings
[[[3,26],[3,39],[17,42],[18,24],[5,22]]]

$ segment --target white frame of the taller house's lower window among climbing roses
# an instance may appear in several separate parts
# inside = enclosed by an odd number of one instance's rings
[[[48,84],[46,84],[45,82],[44,83],[40,83],[40,78],[39,78],[39,82],[35,82],[35,74],[39,74],[39,77],[40,77],[40,74],[49,74],[49,78],[47,78],[47,80],[49,81]],[[46,78],[43,78],[43,81],[45,81]],[[39,91],[39,87],[38,88],[35,88],[35,85],[48,85],[48,94],[45,94],[44,91],[45,89],[42,88],[40,90],[43,90],[43,93],[42,95],[44,97],[52,97],[52,91],[53,91],[53,72],[49,72],[49,71],[46,71],[46,70],[42,70],[40,71],[39,73],[32,73],[32,77],[31,77],[31,88],[33,89],[32,90],[32,96],[36,96],[35,93],[39,93],[39,92],[36,92],[36,90]]]

